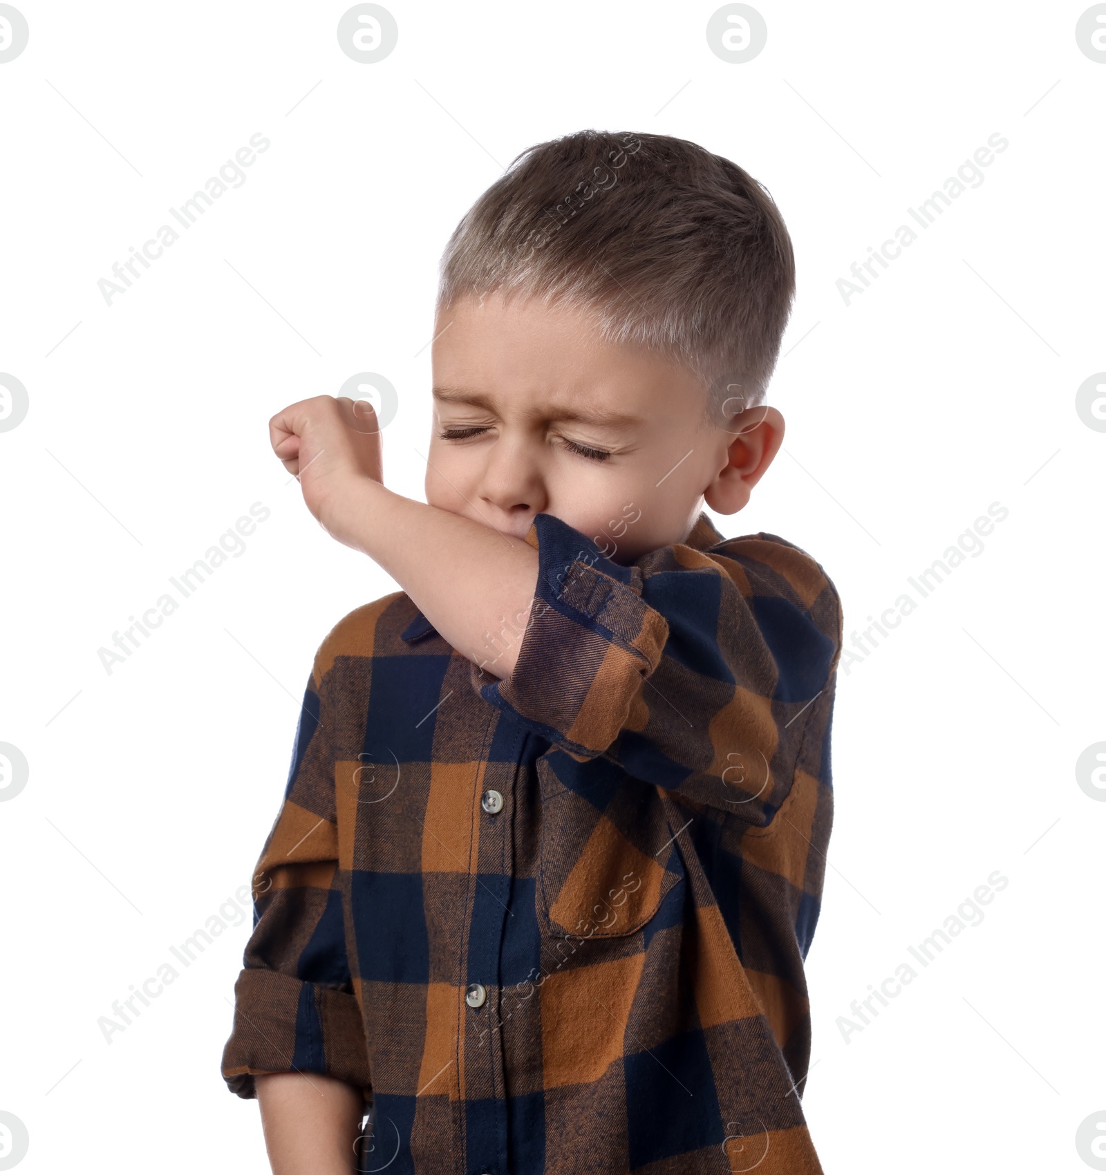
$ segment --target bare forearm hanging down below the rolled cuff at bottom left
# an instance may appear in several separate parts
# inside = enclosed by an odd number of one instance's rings
[[[254,1077],[273,1175],[353,1175],[361,1090],[317,1073]]]

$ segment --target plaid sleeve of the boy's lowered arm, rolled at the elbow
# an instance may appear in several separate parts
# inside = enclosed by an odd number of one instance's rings
[[[370,1095],[346,948],[330,721],[316,658],[284,798],[253,878],[253,933],[222,1055],[223,1079],[240,1097],[256,1096],[261,1073],[324,1074]]]

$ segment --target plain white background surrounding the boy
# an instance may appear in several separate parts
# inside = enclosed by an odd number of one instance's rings
[[[0,740],[31,774],[0,804],[0,1109],[29,1130],[21,1175],[268,1170],[257,1104],[219,1072],[248,918],[110,1045],[98,1027],[248,885],[314,652],[396,586],[310,518],[267,422],[382,372],[386,482],[422,498],[441,250],[518,152],[584,127],[723,154],[790,229],[785,445],[723,533],[810,551],[847,634],[1010,511],[839,678],[807,960],[825,1169],[1090,1170],[1106,804],[1074,766],[1106,739],[1106,434],[1075,390],[1106,369],[1106,65],[1075,42],[1087,5],[758,0],[768,45],[744,65],[706,43],[716,4],[391,0],[375,65],[338,48],[347,4],[18,7],[0,370],[29,411],[0,434]],[[244,184],[107,306],[98,280],[255,132],[272,147]],[[846,306],[850,264],[996,132],[985,181]],[[108,674],[98,650],[254,502],[272,516],[246,553]],[[850,1002],[994,870],[985,920],[846,1043]]]

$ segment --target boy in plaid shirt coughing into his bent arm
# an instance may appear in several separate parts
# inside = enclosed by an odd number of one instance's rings
[[[793,288],[740,168],[581,132],[449,241],[427,504],[383,486],[363,404],[270,421],[403,589],[319,649],[254,878],[222,1073],[276,1175],[820,1171],[840,603],[702,512],[779,450]]]

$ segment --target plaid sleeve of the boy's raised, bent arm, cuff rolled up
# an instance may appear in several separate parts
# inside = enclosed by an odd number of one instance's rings
[[[766,824],[811,721],[827,733],[842,615],[820,565],[762,533],[623,566],[547,513],[527,542],[531,613],[510,678],[474,671],[482,697],[578,763]]]

